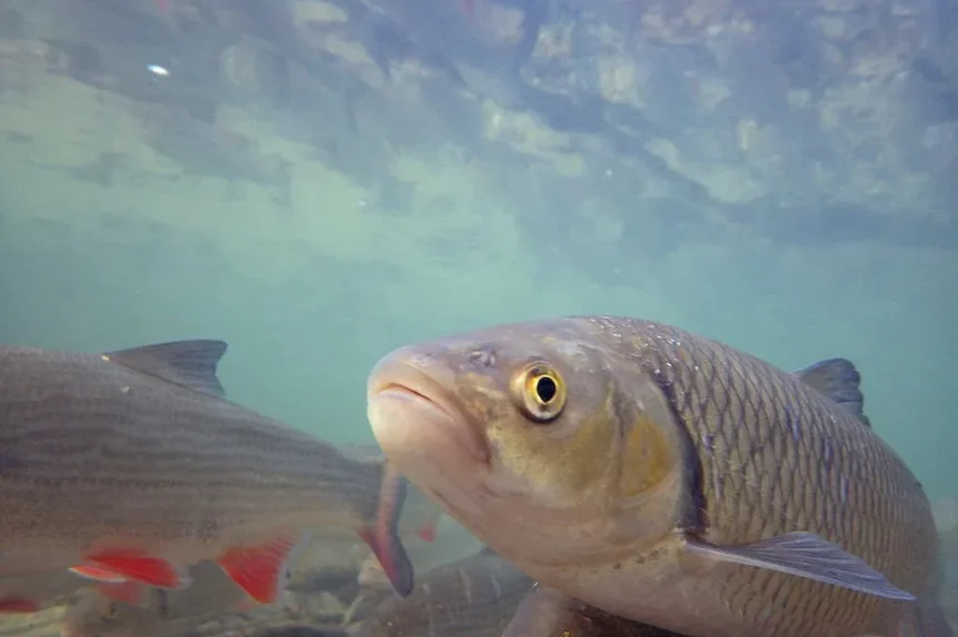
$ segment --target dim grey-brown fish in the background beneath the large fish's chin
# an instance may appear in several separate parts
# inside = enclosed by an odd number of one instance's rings
[[[482,550],[423,574],[409,597],[380,601],[353,637],[499,637],[532,585]]]

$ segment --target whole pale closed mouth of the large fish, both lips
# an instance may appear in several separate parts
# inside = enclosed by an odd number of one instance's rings
[[[381,361],[370,374],[367,400],[369,422],[387,455],[391,443],[437,443],[440,447],[451,444],[471,459],[489,464],[491,454],[479,428],[448,390],[418,367],[402,361]],[[442,439],[436,441],[433,434]]]

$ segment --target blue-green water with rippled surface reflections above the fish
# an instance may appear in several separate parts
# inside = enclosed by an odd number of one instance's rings
[[[958,479],[958,4],[0,0],[0,342],[222,338],[371,442],[395,346],[623,314],[846,356]]]

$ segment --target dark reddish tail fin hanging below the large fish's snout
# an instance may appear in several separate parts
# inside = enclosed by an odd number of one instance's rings
[[[406,501],[406,477],[390,462],[382,463],[382,482],[379,487],[379,510],[372,527],[359,536],[382,566],[392,588],[401,597],[412,593],[415,575],[406,547],[399,539],[399,517]]]

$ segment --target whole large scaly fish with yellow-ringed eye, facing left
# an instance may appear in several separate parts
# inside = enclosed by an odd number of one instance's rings
[[[930,505],[859,384],[845,358],[788,373],[572,316],[396,350],[367,412],[399,471],[553,605],[695,637],[928,637]]]

